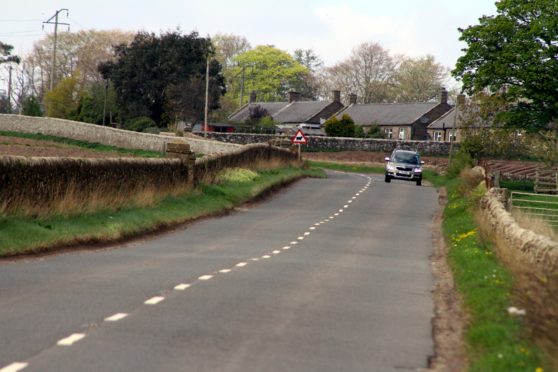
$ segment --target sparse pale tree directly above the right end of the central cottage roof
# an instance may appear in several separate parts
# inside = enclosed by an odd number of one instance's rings
[[[405,58],[395,77],[396,102],[428,102],[438,99],[440,87],[448,78],[448,69],[434,56]]]

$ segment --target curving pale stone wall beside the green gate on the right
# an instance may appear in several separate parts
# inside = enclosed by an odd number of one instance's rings
[[[558,270],[558,243],[550,238],[536,234],[519,226],[505,208],[503,190],[490,189],[481,200],[481,212],[491,231],[503,239],[506,256],[519,254],[525,262],[539,270],[552,274]]]

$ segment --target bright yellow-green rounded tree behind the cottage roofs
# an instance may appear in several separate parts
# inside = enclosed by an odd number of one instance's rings
[[[291,55],[272,46],[260,45],[237,56],[235,62],[233,74],[244,75],[245,92],[256,90],[263,101],[283,101],[308,73]]]

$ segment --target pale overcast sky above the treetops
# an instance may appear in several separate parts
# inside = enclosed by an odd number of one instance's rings
[[[252,46],[270,44],[291,52],[313,49],[326,65],[350,55],[364,41],[411,57],[432,54],[453,67],[464,47],[458,27],[495,14],[494,0],[2,0],[0,41],[25,55],[53,25],[42,22],[68,8],[61,22],[72,31],[122,29],[166,31],[179,27],[200,35],[232,33]],[[65,30],[61,27],[61,30]]]

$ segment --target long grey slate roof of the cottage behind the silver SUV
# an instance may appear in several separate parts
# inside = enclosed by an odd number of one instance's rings
[[[359,125],[410,125],[438,105],[438,102],[356,104],[337,116],[348,114]]]

